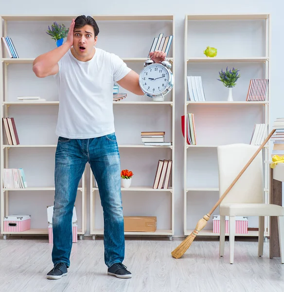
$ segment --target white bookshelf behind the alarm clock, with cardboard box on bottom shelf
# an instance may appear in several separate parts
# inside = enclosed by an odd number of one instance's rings
[[[104,20],[115,19],[116,17],[111,17]],[[128,25],[129,27],[136,25],[137,29],[141,31],[142,27],[145,27],[147,23],[152,23],[151,31],[149,31],[149,36],[147,37],[149,39],[146,44],[147,49],[143,51],[142,56],[138,55],[136,58],[123,58],[124,62],[137,73],[140,73],[143,68],[137,65],[142,65],[145,61],[146,58],[144,56],[148,55],[154,37],[158,37],[160,33],[164,33],[164,36],[173,35],[173,41],[167,59],[172,63],[173,67],[171,70],[175,76],[175,19],[173,15],[128,16],[127,18],[121,17],[118,20],[124,22],[125,32],[128,30]],[[126,25],[125,20],[127,21]],[[166,25],[163,25],[163,23]],[[127,46],[128,43],[125,42],[125,48]],[[175,202],[175,84],[173,90],[165,96],[164,102],[153,102],[149,97],[133,96],[133,94],[130,95],[131,100],[127,101],[128,98],[129,97],[121,102],[114,102],[114,118],[116,136],[120,148],[121,169],[127,168],[134,172],[131,186],[129,188],[121,188],[124,216],[157,216],[157,231],[124,232],[124,234],[125,236],[140,237],[162,236],[169,237],[171,240],[172,235],[174,235]],[[124,137],[126,134],[123,134],[124,131],[121,119],[125,112],[131,122],[133,121],[134,123],[134,126],[129,129],[130,137]],[[147,112],[147,114],[145,114],[145,112]],[[162,126],[163,122],[159,121],[159,117],[165,119],[165,128]],[[151,123],[153,126],[151,126]],[[152,130],[165,131],[165,142],[172,142],[172,146],[143,145],[140,137],[141,131]],[[133,135],[133,138],[131,135]],[[170,187],[168,189],[153,189],[159,159],[171,159],[173,161]],[[145,175],[139,170],[139,163],[142,160],[143,167],[148,167],[151,175]],[[93,236],[93,239],[95,239],[97,236],[102,236],[104,234],[103,213],[99,189],[94,187],[94,176],[91,171],[90,173],[90,234]],[[142,183],[139,182],[140,180]],[[153,200],[155,201],[153,202]],[[163,205],[164,203],[165,205]],[[159,208],[159,204],[165,206],[165,208]],[[152,207],[152,205],[154,207]],[[163,226],[163,221],[167,222],[166,226]]]

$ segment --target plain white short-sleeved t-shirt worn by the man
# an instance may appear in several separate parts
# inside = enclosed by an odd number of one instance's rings
[[[77,60],[69,50],[58,65],[54,75],[59,91],[56,135],[88,139],[113,133],[113,84],[131,69],[117,55],[99,48],[87,62]]]

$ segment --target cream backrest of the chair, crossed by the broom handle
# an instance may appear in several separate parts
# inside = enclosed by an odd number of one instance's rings
[[[259,146],[231,144],[217,147],[219,197],[237,177]],[[223,203],[264,203],[262,151],[226,195]]]

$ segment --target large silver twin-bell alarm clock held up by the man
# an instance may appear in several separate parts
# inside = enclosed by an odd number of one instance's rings
[[[160,63],[154,63],[151,58],[146,60],[139,75],[139,84],[144,95],[152,97],[153,100],[162,101],[174,85],[171,68],[172,65],[167,60]]]

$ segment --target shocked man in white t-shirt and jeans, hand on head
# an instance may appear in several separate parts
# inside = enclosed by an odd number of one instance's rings
[[[114,130],[113,83],[143,95],[139,74],[117,55],[96,48],[99,28],[91,17],[72,19],[67,41],[35,58],[37,77],[54,75],[59,91],[58,137],[55,153],[53,210],[53,269],[48,279],[67,274],[72,247],[71,219],[79,181],[89,162],[98,183],[104,211],[107,274],[131,278],[123,265],[124,219],[120,155]],[[160,62],[165,54],[151,52]]]

